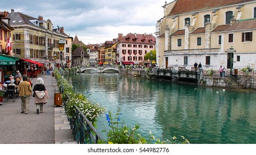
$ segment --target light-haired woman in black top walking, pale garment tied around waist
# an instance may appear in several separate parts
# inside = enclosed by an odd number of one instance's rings
[[[44,86],[44,80],[41,77],[37,78],[36,84],[34,85],[33,91],[35,93],[35,106],[37,107],[37,114],[43,113],[44,104],[47,103],[49,95]]]

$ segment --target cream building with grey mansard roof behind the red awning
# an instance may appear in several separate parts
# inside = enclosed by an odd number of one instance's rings
[[[44,20],[42,16],[38,18],[30,17],[20,12],[9,13],[10,25],[14,28],[13,53],[15,56],[30,59],[43,63],[44,66],[54,65],[54,54],[56,66],[60,66],[61,56],[58,48],[59,40],[64,40],[62,63],[67,64],[66,59],[71,60],[71,39],[64,33],[63,27],[53,28],[50,19]],[[66,53],[66,50],[69,50]]]

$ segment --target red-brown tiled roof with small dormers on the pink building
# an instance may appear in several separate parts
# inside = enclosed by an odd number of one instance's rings
[[[128,33],[120,40],[120,43],[155,44],[156,37],[151,34]]]

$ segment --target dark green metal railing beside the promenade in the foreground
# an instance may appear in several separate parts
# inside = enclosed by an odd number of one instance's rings
[[[64,102],[64,106],[66,107],[66,102]],[[78,144],[96,144],[98,140],[105,141],[88,118],[84,116],[84,113],[76,105],[74,107],[75,115],[68,117],[68,120],[75,141]]]

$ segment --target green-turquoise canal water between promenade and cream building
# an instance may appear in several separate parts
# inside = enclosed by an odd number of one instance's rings
[[[190,143],[256,143],[256,93],[176,84],[121,74],[74,74],[68,80],[107,111],[121,108],[121,121],[140,133]],[[106,111],[106,112],[107,112]],[[108,129],[105,116],[99,132]],[[106,134],[101,132],[103,136]]]

